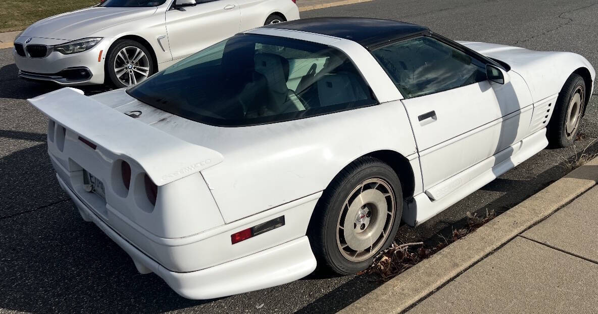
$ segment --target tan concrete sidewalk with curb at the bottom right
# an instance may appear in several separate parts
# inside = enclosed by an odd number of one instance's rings
[[[341,313],[598,309],[598,158]]]

